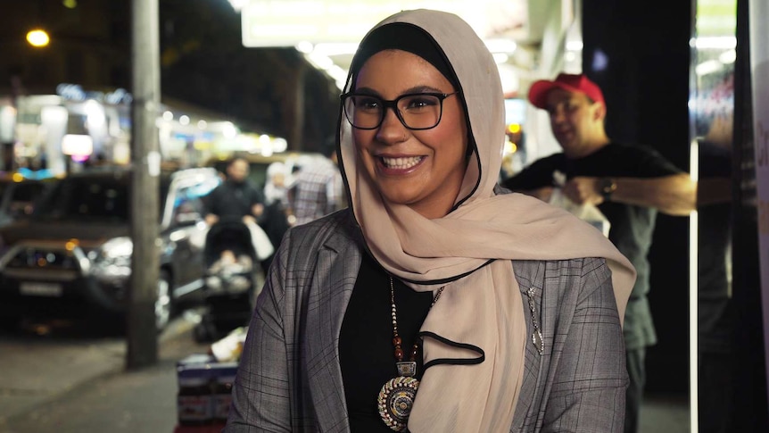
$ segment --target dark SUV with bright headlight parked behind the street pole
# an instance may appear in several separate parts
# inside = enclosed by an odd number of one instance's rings
[[[133,252],[129,179],[129,171],[71,174],[46,191],[28,219],[0,228],[0,318],[124,322]],[[208,228],[200,197],[220,181],[211,168],[161,174],[158,329],[203,287]]]

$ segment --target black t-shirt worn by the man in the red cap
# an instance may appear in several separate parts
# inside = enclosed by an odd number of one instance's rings
[[[566,179],[578,176],[615,178],[657,178],[681,173],[672,162],[648,146],[611,143],[579,159],[552,154],[533,162],[523,171],[502,182],[513,191],[555,186],[553,173]],[[654,208],[604,202],[598,206],[611,227],[609,239],[633,263],[638,272],[624,317],[625,346],[628,349],[653,345],[657,341],[646,295],[649,293],[649,247],[657,210]]]

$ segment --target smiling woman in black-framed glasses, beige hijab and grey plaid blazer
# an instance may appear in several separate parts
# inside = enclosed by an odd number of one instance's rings
[[[225,431],[620,431],[633,267],[496,185],[504,104],[456,15],[369,31],[342,96],[350,207],[289,230]]]

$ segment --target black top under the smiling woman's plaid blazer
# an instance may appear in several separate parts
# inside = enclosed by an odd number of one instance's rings
[[[430,311],[433,293],[417,292],[399,279],[393,279],[393,284],[398,334],[402,340],[403,358],[408,360],[419,328]],[[379,390],[387,380],[398,376],[390,309],[388,274],[373,258],[364,254],[339,335],[339,361],[352,432],[393,432],[384,425],[376,408]],[[421,348],[417,366],[417,379],[421,379]]]

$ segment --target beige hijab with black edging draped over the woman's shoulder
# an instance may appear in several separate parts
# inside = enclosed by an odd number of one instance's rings
[[[494,195],[505,123],[500,76],[492,54],[474,30],[451,13],[400,12],[376,27],[397,21],[412,23],[432,36],[459,78],[468,130],[477,146],[457,196],[459,206],[443,218],[428,220],[405,205],[384,202],[376,186],[358,171],[351,127],[343,115],[340,166],[351,207],[376,260],[415,290],[445,285],[421,330],[478,346],[485,354],[479,364],[427,369],[409,430],[509,431],[523,379],[525,345],[530,341],[510,261],[605,257],[620,318],[635,271],[589,224],[528,196]],[[361,46],[365,43],[364,38]],[[348,78],[345,91],[353,84]],[[476,356],[433,338],[424,341],[425,362]]]

